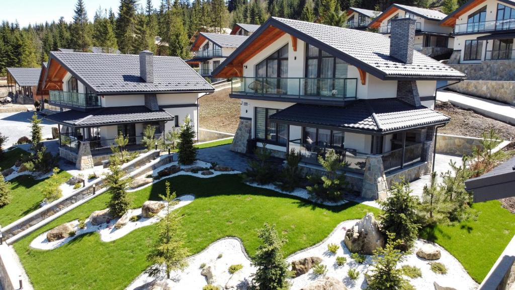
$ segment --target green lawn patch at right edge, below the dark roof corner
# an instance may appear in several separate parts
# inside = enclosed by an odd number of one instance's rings
[[[421,237],[433,240],[458,259],[478,283],[485,279],[515,234],[515,215],[499,201],[475,203],[477,220],[426,229]]]

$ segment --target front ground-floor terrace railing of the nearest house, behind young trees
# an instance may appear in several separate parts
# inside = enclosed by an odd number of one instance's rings
[[[289,148],[294,148],[296,152],[300,152],[302,155],[302,162],[308,164],[320,165],[318,162],[318,156],[322,156],[325,159],[327,154],[334,150],[340,162],[345,162],[347,166],[344,168],[346,171],[352,171],[357,173],[365,172],[365,165],[367,164],[367,156],[369,154],[357,152],[354,149],[332,147],[327,144],[308,144],[302,143],[301,139],[295,139],[289,141]]]

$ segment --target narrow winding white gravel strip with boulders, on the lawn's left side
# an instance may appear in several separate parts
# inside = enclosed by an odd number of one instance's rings
[[[195,196],[193,195],[183,195],[178,197],[176,200],[179,201],[178,204],[174,205],[171,210],[176,210],[179,207],[185,206],[187,204],[190,204],[193,200],[195,200]],[[165,208],[161,210],[156,216],[152,218],[143,218],[141,217],[138,221],[129,221],[124,227],[121,229],[116,229],[114,227],[114,224],[118,219],[111,220],[109,223],[104,223],[100,225],[92,225],[90,222],[90,219],[86,219],[86,227],[84,229],[79,229],[78,220],[72,221],[73,229],[76,231],[76,234],[72,237],[67,237],[64,239],[56,240],[56,241],[48,241],[46,239],[47,232],[42,233],[41,235],[37,236],[35,239],[32,240],[30,243],[31,248],[40,249],[40,250],[52,250],[61,247],[62,245],[67,244],[72,239],[86,233],[91,232],[98,232],[100,234],[100,239],[102,241],[113,241],[115,239],[121,238],[128,233],[134,231],[135,229],[146,227],[147,225],[151,225],[153,223],[158,222],[162,217],[166,215],[166,206],[167,203],[165,203]],[[140,215],[141,214],[141,207],[135,208],[130,210],[130,215]]]

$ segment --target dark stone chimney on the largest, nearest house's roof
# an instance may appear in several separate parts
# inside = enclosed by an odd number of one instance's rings
[[[413,63],[416,23],[417,21],[411,18],[391,20],[390,56],[404,63]]]

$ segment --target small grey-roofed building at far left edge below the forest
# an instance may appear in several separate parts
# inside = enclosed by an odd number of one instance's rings
[[[13,103],[33,104],[41,68],[7,68],[7,86]]]

